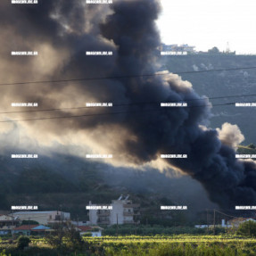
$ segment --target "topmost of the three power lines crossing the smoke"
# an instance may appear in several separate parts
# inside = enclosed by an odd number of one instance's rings
[[[209,73],[209,72],[221,72],[221,71],[233,71],[233,70],[254,70],[256,67],[243,67],[243,68],[230,68],[230,69],[216,69],[216,70],[199,70],[199,71],[175,71],[179,75],[183,74],[196,74],[196,73]],[[112,77],[102,77],[102,78],[70,78],[70,79],[56,79],[56,80],[38,80],[38,81],[27,81],[27,82],[15,82],[15,83],[1,83],[0,87],[4,86],[15,86],[15,85],[29,85],[29,84],[45,84],[45,83],[66,83],[66,82],[79,82],[79,81],[89,81],[89,80],[104,80],[104,79],[119,79],[119,78],[144,78],[144,77],[156,77],[165,76],[168,73],[154,73],[145,75],[127,75],[127,76],[112,76]]]

